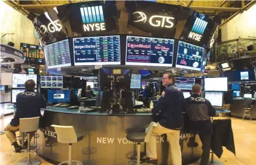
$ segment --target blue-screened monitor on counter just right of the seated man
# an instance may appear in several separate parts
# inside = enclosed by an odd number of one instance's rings
[[[48,90],[48,103],[69,103],[71,100],[71,90]]]

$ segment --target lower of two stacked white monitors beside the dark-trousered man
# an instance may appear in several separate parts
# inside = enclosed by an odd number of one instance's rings
[[[206,92],[205,98],[208,99],[212,106],[222,107],[223,106],[223,93],[222,92]]]

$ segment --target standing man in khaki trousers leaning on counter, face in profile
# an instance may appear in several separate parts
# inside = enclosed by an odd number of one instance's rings
[[[150,141],[147,142],[147,158],[149,161],[157,160],[157,140],[156,136],[166,134],[168,142],[171,145],[171,157],[173,165],[181,165],[182,157],[179,145],[180,129],[184,125],[182,119],[182,110],[184,109],[185,99],[183,93],[174,85],[173,74],[167,72],[163,74],[163,86],[166,88],[161,94],[157,105],[150,109],[155,115],[159,113],[160,120],[157,126],[152,129]]]

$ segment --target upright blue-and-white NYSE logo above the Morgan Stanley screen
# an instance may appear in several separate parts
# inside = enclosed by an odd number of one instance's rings
[[[106,30],[102,6],[81,7],[80,12],[84,31]]]

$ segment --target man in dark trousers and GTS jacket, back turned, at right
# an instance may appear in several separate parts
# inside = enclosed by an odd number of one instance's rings
[[[201,165],[209,164],[211,149],[212,123],[211,118],[216,113],[211,102],[201,98],[201,86],[193,85],[192,95],[185,99],[185,111],[190,119],[190,130],[198,132],[203,144]]]

